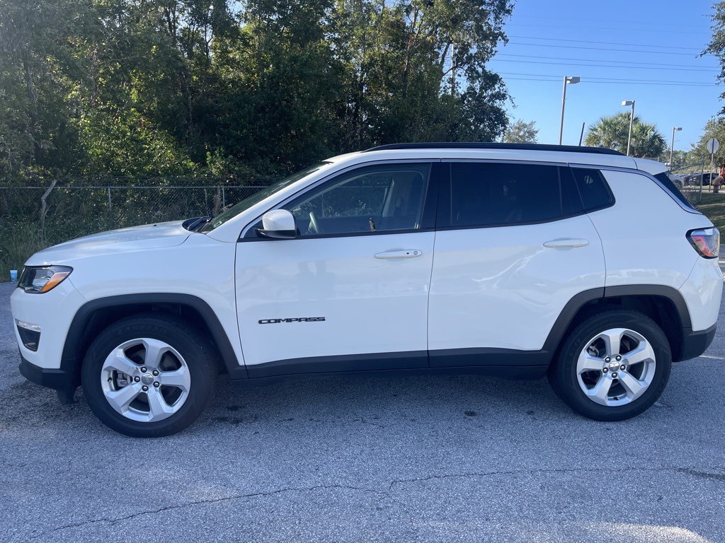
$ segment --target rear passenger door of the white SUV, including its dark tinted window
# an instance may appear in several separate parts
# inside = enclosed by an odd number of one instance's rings
[[[526,365],[566,303],[604,286],[599,235],[568,167],[443,164],[428,308],[431,366]],[[485,356],[492,355],[492,356]]]

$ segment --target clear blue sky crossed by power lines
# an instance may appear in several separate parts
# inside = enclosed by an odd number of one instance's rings
[[[653,122],[669,147],[689,150],[725,106],[718,60],[698,56],[711,38],[710,0],[518,0],[505,24],[509,43],[489,69],[503,77],[513,119],[535,121],[539,143],[558,143],[564,76],[563,141],[577,145],[581,124],[631,111]],[[666,82],[666,83],[665,83]],[[725,142],[723,142],[725,143]]]

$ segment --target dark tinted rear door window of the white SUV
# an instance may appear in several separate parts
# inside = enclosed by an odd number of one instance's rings
[[[547,222],[581,213],[571,175],[558,166],[452,162],[450,182],[452,227]]]

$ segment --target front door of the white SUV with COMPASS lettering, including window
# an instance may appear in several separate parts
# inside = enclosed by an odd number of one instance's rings
[[[237,244],[249,376],[427,366],[430,177],[431,164],[357,167],[282,206],[295,239]]]

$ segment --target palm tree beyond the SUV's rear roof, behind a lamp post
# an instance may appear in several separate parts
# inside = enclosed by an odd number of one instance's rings
[[[626,153],[629,140],[629,119],[630,114],[626,111],[600,118],[587,130],[584,143],[587,146],[606,147]],[[632,122],[630,156],[656,159],[665,148],[665,138],[657,127],[651,123],[642,122],[635,115]]]

